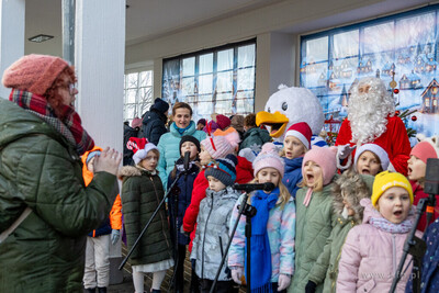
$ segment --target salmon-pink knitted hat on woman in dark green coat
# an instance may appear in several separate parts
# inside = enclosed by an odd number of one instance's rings
[[[69,65],[59,57],[31,54],[21,57],[4,70],[5,88],[44,94],[59,74]]]

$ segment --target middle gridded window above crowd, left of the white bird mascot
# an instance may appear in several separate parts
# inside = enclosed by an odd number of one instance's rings
[[[193,120],[212,113],[255,111],[256,41],[164,60],[161,97],[171,105],[185,102]]]

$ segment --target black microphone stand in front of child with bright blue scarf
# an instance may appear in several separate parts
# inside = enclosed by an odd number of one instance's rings
[[[215,285],[216,282],[218,281],[219,274],[221,274],[221,270],[223,269],[224,262],[226,261],[227,255],[228,255],[228,249],[230,248],[232,245],[232,240],[233,237],[235,235],[236,228],[238,227],[239,224],[239,218],[241,215],[246,216],[246,239],[247,239],[247,263],[246,263],[246,268],[247,268],[247,278],[246,278],[246,286],[247,286],[247,293],[250,293],[250,271],[251,271],[251,266],[250,266],[250,251],[251,251],[251,217],[256,215],[256,209],[250,205],[248,202],[248,193],[246,192],[244,198],[243,198],[243,202],[240,203],[240,205],[238,205],[238,217],[236,218],[236,222],[234,224],[234,227],[232,229],[232,233],[229,234],[230,237],[228,238],[228,243],[227,243],[227,247],[226,247],[226,251],[223,255],[223,258],[221,260],[219,263],[219,268],[216,271],[216,275],[215,275],[215,280],[213,281],[212,288],[210,293],[213,293],[215,291]]]

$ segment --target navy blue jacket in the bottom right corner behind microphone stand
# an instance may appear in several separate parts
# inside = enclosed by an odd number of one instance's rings
[[[438,292],[439,290],[439,218],[428,226],[424,239],[427,251],[423,259],[420,292]],[[413,292],[412,278],[407,283],[406,293]]]

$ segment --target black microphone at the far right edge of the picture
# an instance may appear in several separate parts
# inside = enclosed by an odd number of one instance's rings
[[[439,159],[427,159],[424,192],[428,193],[427,223],[430,224],[436,206],[435,195],[439,194]]]

